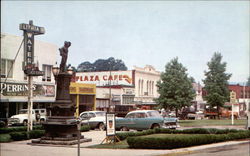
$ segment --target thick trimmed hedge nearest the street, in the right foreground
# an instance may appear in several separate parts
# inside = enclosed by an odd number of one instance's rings
[[[154,136],[128,137],[127,143],[130,148],[137,149],[174,149],[245,138],[250,138],[250,131],[228,134],[173,134],[173,136],[161,138]]]

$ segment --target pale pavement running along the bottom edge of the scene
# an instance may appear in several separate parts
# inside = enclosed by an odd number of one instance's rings
[[[209,144],[209,145],[203,145],[203,146],[196,146],[196,147],[189,147],[189,148],[181,148],[181,149],[175,149],[175,150],[135,150],[135,149],[90,149],[86,148],[90,145],[100,144],[103,139],[105,138],[105,131],[89,131],[82,133],[86,138],[92,138],[92,142],[82,143],[81,144],[81,155],[87,155],[87,156],[156,156],[156,155],[168,155],[168,154],[224,154],[224,152],[220,153],[219,151],[225,151],[230,153],[229,149],[230,147],[222,147],[225,145],[235,145],[234,150],[237,150],[237,148],[240,149],[240,152],[242,155],[239,156],[245,156],[249,150],[248,148],[245,148],[246,144],[241,146],[237,145],[239,143],[249,143],[248,141],[230,141],[225,143],[216,143],[216,144]],[[26,141],[16,141],[11,143],[2,143],[1,144],[1,153],[0,156],[73,156],[77,155],[77,145],[73,146],[51,146],[51,145],[28,145],[27,143],[30,143],[30,140]],[[208,148],[214,148],[215,149],[208,149]],[[206,150],[205,150],[206,149]],[[208,150],[207,150],[208,149]],[[202,152],[201,152],[202,150]],[[214,151],[214,152],[213,152]],[[215,152],[216,151],[216,152]],[[198,153],[196,153],[198,152]],[[207,153],[206,153],[207,152]],[[231,154],[231,153],[230,153]],[[198,156],[197,155],[197,156]],[[196,156],[196,155],[191,155]],[[218,155],[219,156],[219,155]],[[233,156],[233,155],[232,155]]]

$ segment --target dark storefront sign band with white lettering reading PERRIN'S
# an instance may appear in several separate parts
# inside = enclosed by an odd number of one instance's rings
[[[28,96],[28,84],[24,83],[0,83],[1,95],[3,96]],[[34,84],[32,87],[33,96],[55,96],[54,85]]]

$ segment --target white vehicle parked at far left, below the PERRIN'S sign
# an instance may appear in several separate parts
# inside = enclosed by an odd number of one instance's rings
[[[31,118],[34,124],[41,124],[46,121],[46,109],[33,109]],[[28,124],[28,110],[21,109],[19,114],[13,115],[8,119],[8,125],[24,125]]]

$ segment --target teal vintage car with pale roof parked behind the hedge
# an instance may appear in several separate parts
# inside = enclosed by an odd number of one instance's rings
[[[125,118],[116,118],[116,129],[146,130],[153,128],[177,128],[177,118],[164,118],[156,110],[136,110],[129,112]]]

